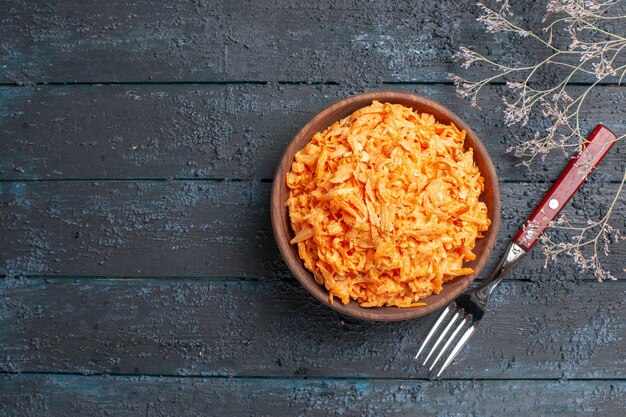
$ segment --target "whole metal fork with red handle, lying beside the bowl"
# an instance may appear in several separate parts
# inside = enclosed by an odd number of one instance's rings
[[[609,129],[603,125],[596,126],[581,152],[572,158],[533,214],[518,231],[496,269],[482,284],[465,291],[443,310],[415,355],[416,360],[420,360],[425,355],[422,365],[428,366],[431,376],[439,378],[452,363],[485,315],[487,302],[493,290],[511,268],[530,251],[545,228],[578,191],[591,170],[600,163],[616,140],[617,136]],[[443,330],[437,333],[440,328]],[[436,340],[426,354],[426,347],[435,338]],[[453,347],[450,349],[451,346]],[[448,350],[449,353],[441,362]],[[441,366],[437,368],[439,363]]]

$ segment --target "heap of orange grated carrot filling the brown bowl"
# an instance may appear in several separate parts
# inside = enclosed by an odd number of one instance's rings
[[[424,305],[475,259],[491,224],[465,131],[374,101],[295,155],[286,202],[298,253],[329,299]]]

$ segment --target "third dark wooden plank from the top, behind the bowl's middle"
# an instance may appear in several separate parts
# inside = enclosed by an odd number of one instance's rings
[[[274,243],[270,185],[244,181],[0,183],[0,274],[29,276],[264,277],[289,275]],[[500,254],[547,184],[502,184]],[[603,190],[599,194],[599,190]],[[566,213],[601,218],[617,184],[588,184]],[[624,196],[614,224],[626,217]],[[582,220],[581,220],[582,219]],[[616,223],[615,223],[616,222]],[[623,275],[626,241],[606,258]],[[494,266],[497,256],[487,268]],[[543,268],[535,251],[514,277],[577,274],[570,260]],[[583,274],[591,278],[591,274]]]

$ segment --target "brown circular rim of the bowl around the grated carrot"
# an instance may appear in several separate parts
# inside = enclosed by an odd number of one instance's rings
[[[318,284],[315,281],[312,273],[309,272],[300,259],[299,256],[294,255],[294,251],[291,250],[291,244],[289,243],[289,238],[287,233],[282,233],[284,227],[281,229],[281,222],[286,220],[287,230],[291,230],[291,223],[288,220],[288,211],[285,207],[284,201],[280,201],[281,189],[286,189],[287,185],[285,183],[285,175],[286,175],[286,167],[291,167],[291,163],[293,162],[293,157],[296,152],[302,149],[306,144],[310,141],[310,137],[307,138],[306,141],[301,143],[301,139],[304,135],[311,136],[315,132],[309,132],[311,130],[311,126],[315,125],[321,121],[326,120],[329,126],[336,120],[340,120],[341,118],[347,116],[340,116],[337,118],[333,118],[333,114],[337,114],[344,110],[349,105],[354,105],[356,103],[360,103],[361,105],[358,108],[365,107],[373,100],[377,100],[380,102],[411,102],[418,104],[420,107],[428,107],[431,109],[435,109],[439,113],[443,113],[447,118],[450,119],[457,127],[466,131],[466,137],[471,137],[472,142],[474,144],[471,146],[475,152],[480,154],[484,159],[484,165],[487,168],[487,172],[481,172],[483,176],[486,174],[491,178],[492,184],[492,193],[493,193],[493,213],[491,216],[492,224],[490,226],[490,235],[485,237],[487,240],[485,251],[482,257],[478,260],[477,265],[474,267],[474,273],[471,275],[465,275],[461,277],[457,277],[454,280],[449,281],[445,285],[451,285],[452,283],[456,283],[454,291],[452,291],[446,297],[440,297],[436,302],[429,303],[423,307],[409,307],[409,308],[397,308],[397,307],[359,307],[356,309],[356,312],[352,309],[349,309],[352,303],[355,303],[358,306],[358,303],[355,300],[350,300],[348,304],[342,304],[340,301],[335,300],[334,303],[330,303],[328,299],[328,291],[322,285]],[[356,110],[356,109],[355,109]],[[325,126],[324,128],[326,128]],[[300,145],[299,145],[300,143]],[[291,155],[291,156],[290,156]],[[289,270],[296,277],[296,279],[300,282],[300,284],[316,299],[318,299],[323,304],[333,308],[336,311],[339,311],[348,316],[362,319],[362,320],[370,320],[370,321],[399,321],[399,320],[407,320],[412,318],[417,318],[420,316],[424,316],[433,311],[438,310],[439,308],[447,305],[450,301],[458,297],[480,274],[482,269],[484,268],[487,260],[489,259],[491,252],[493,251],[495,241],[498,235],[498,229],[500,226],[500,187],[498,182],[498,176],[491,160],[491,156],[487,152],[484,144],[476,134],[468,125],[461,119],[456,113],[452,112],[445,106],[437,103],[434,100],[428,99],[426,97],[420,96],[414,93],[406,93],[400,91],[393,90],[376,90],[366,93],[360,93],[355,95],[350,95],[341,100],[335,101],[329,106],[322,109],[319,113],[317,113],[314,117],[312,117],[307,123],[302,126],[302,128],[293,136],[283,154],[280,158],[280,162],[276,168],[276,172],[274,174],[274,179],[272,181],[272,191],[271,191],[271,200],[270,200],[270,212],[271,212],[271,220],[272,220],[272,230],[274,232],[274,237],[276,239],[276,243],[278,245],[278,249],[285,260]],[[320,293],[318,289],[322,289],[323,293]],[[427,297],[428,298],[428,297]],[[426,298],[426,299],[427,299]],[[388,309],[388,312],[384,315],[380,314],[381,309]],[[389,312],[389,309],[393,309],[395,311]],[[377,313],[378,312],[378,313]]]

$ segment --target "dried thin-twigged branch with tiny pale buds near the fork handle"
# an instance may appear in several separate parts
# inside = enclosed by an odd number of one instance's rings
[[[469,99],[470,105],[477,106],[484,86],[494,81],[506,81],[513,97],[503,97],[504,121],[508,126],[526,126],[533,115],[551,120],[550,125],[543,131],[535,132],[532,139],[509,148],[509,152],[521,158],[522,165],[528,168],[537,157],[543,161],[554,150],[560,150],[565,155],[581,151],[586,132],[581,126],[580,115],[589,93],[609,78],[619,76],[618,83],[621,84],[626,76],[626,34],[610,29],[612,26],[622,30],[626,27],[626,24],[621,24],[626,22],[626,15],[616,11],[621,0],[549,0],[543,19],[545,26],[540,32],[516,24],[508,0],[497,2],[500,3],[499,10],[478,3],[481,15],[477,20],[487,32],[519,35],[523,42],[546,48],[550,54],[532,65],[515,66],[499,63],[496,58],[461,47],[453,59],[459,61],[462,68],[480,63],[491,68],[495,74],[478,81],[450,74],[457,95]],[[611,25],[612,22],[619,24]],[[565,48],[555,43],[555,34],[568,35],[569,43]],[[564,76],[547,87],[535,85],[537,74],[550,68],[563,71]],[[584,91],[572,94],[571,82],[581,74],[592,75],[595,81]],[[626,134],[623,134],[617,140],[625,137]],[[556,261],[558,256],[567,254],[574,258],[581,270],[592,271],[598,280],[614,279],[602,266],[599,254],[608,254],[610,244],[622,239],[620,231],[610,225],[609,220],[623,185],[624,180],[602,219],[588,220],[583,226],[570,223],[564,216],[554,222],[551,225],[553,229],[569,232],[570,236],[568,241],[558,242],[553,240],[552,234],[544,235],[541,241],[546,262]],[[592,251],[591,255],[585,255],[588,248]]]

